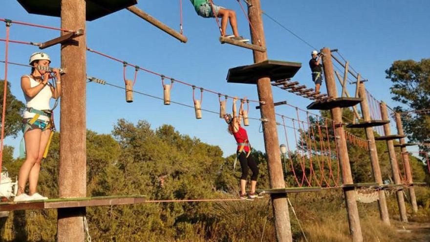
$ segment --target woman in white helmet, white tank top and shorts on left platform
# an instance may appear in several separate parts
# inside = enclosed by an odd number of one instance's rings
[[[51,63],[49,56],[36,52],[30,56],[32,66],[30,75],[21,77],[21,88],[27,102],[23,114],[22,132],[24,133],[26,158],[18,176],[18,193],[14,201],[48,199],[37,193],[37,181],[46,145],[51,133],[51,110],[49,100],[61,95],[61,77],[58,69],[52,69],[53,75],[46,71]],[[48,83],[49,78],[56,78],[56,88]],[[25,185],[29,180],[29,194],[25,194]]]

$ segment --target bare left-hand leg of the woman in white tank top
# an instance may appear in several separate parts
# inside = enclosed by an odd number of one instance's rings
[[[41,130],[35,129],[25,132],[24,140],[25,140],[25,152],[26,158],[24,163],[22,163],[20,168],[20,173],[18,175],[18,193],[17,196],[24,193],[25,183],[27,183],[28,175],[31,171],[31,168],[34,166],[38,155],[39,155],[39,147],[40,147],[40,137]]]

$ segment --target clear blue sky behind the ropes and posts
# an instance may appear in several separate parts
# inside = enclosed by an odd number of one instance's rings
[[[179,1],[141,1],[138,7],[162,22],[179,29]],[[249,38],[249,27],[236,0],[216,0],[216,4],[237,11],[239,33]],[[188,43],[182,44],[148,22],[139,19],[128,10],[122,10],[87,22],[87,46],[129,63],[171,76],[196,86],[212,89],[230,96],[247,96],[258,99],[257,88],[253,85],[228,84],[227,71],[234,66],[252,64],[252,52],[240,47],[219,44],[214,19],[203,19],[196,15],[188,0],[183,0],[184,34]],[[428,27],[430,1],[428,0],[364,0],[364,1],[285,1],[262,0],[262,9],[271,17],[284,24],[318,49],[327,46],[338,48],[362,76],[369,79],[366,88],[379,100],[391,107],[399,105],[391,101],[390,82],[385,79],[385,69],[395,60],[429,58]],[[60,27],[60,19],[28,14],[15,0],[2,3],[0,18]],[[307,65],[312,48],[263,16],[269,59],[301,62],[294,80],[312,86]],[[2,25],[4,26],[4,25]],[[59,35],[58,31],[44,30],[14,24],[10,29],[10,39],[27,42],[44,42]],[[5,38],[5,27],[0,27],[0,38]],[[34,46],[10,44],[9,61],[26,63],[29,55],[38,49]],[[60,66],[60,46],[45,50],[53,62]],[[0,43],[0,59],[4,60],[4,43]],[[4,66],[0,65],[0,77],[4,78]],[[8,79],[12,93],[24,100],[19,85],[20,76],[29,73],[25,67],[9,66]],[[122,64],[87,52],[87,74],[116,85],[124,85]],[[128,68],[129,78],[133,69]],[[78,80],[77,80],[78,81]],[[353,92],[354,87],[348,87]],[[152,95],[163,95],[158,76],[140,71],[135,90]],[[338,88],[339,89],[339,88]],[[325,91],[325,86],[323,89]],[[309,100],[289,92],[273,88],[275,102],[286,100],[300,108]],[[172,100],[192,105],[192,89],[175,84]],[[196,120],[194,110],[182,106],[164,106],[162,101],[134,94],[134,102],[125,102],[124,90],[87,84],[86,100],[87,128],[99,133],[109,133],[118,118],[131,122],[145,119],[152,128],[171,124],[181,133],[189,134],[214,145],[219,145],[225,155],[235,152],[235,142],[226,131],[226,124],[217,115],[203,112],[203,118]],[[218,97],[204,93],[204,109],[218,110]],[[231,101],[228,109],[231,109]],[[56,110],[59,126],[59,108]],[[279,106],[276,112],[294,117],[295,110]],[[255,104],[251,104],[250,117],[259,117]],[[259,123],[251,120],[247,127],[254,148],[264,151]],[[396,132],[392,128],[392,132]],[[285,142],[283,131],[279,129],[280,143]],[[18,148],[19,140],[7,138],[5,144]],[[17,149],[15,151],[17,154]]]

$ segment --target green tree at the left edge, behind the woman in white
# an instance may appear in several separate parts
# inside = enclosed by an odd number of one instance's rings
[[[0,112],[3,110],[3,92],[4,81],[0,80]],[[21,131],[22,112],[24,108],[24,104],[10,92],[10,82],[8,82],[6,88],[6,116],[4,121],[5,137],[9,135],[16,137],[18,132]]]

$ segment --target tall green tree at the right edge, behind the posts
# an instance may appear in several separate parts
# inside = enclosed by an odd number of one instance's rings
[[[430,59],[420,62],[413,60],[395,61],[386,71],[387,79],[393,86],[390,88],[393,100],[409,107],[408,110],[425,110],[430,108]],[[404,111],[396,107],[396,111]],[[430,142],[429,113],[410,113],[403,117],[403,126],[412,142]],[[429,147],[421,147],[429,151]]]

